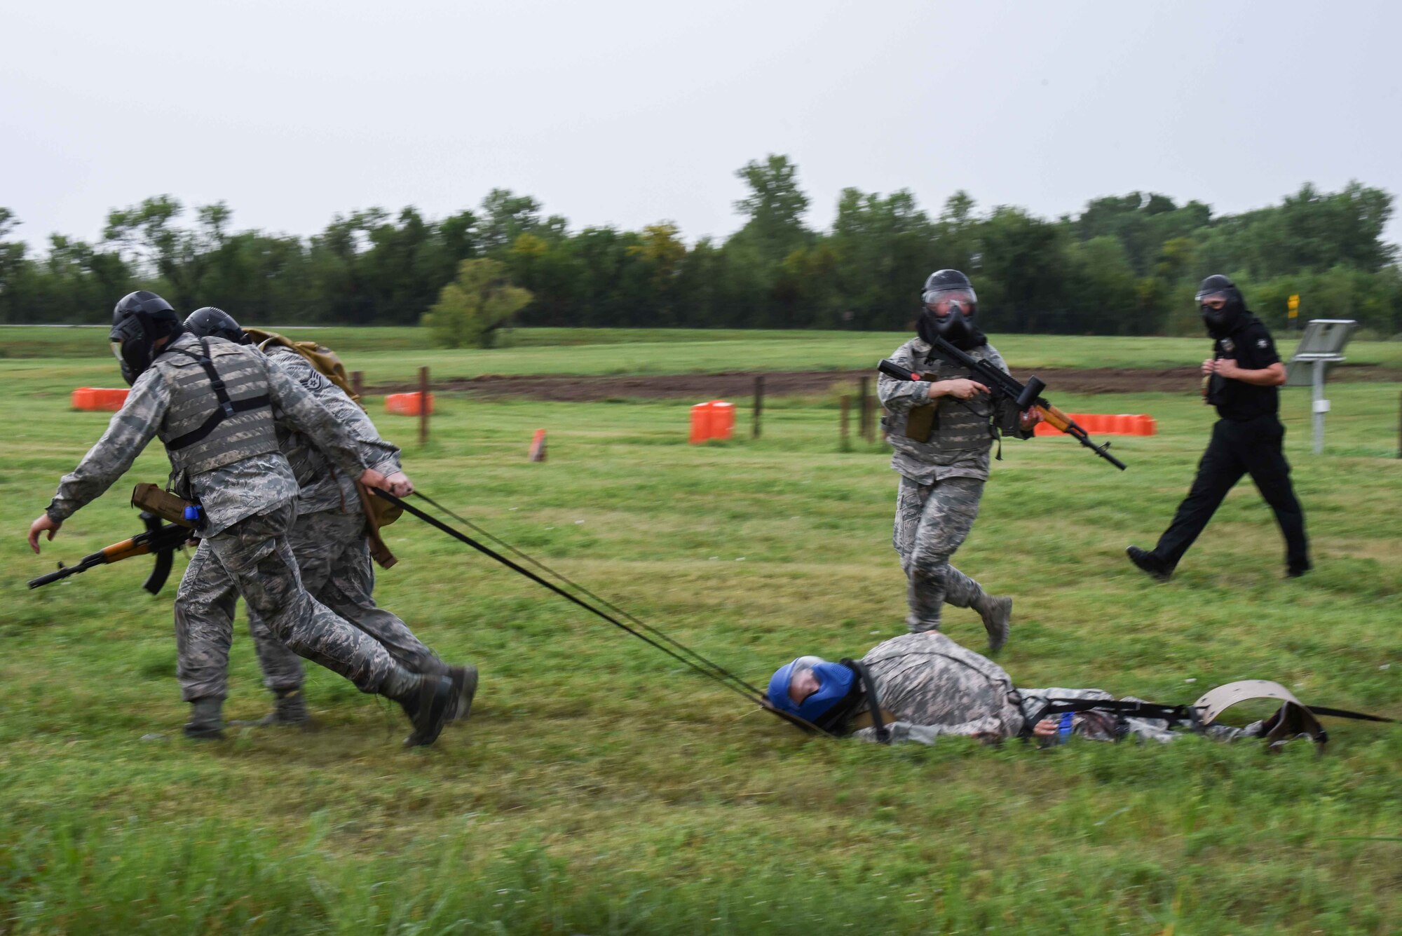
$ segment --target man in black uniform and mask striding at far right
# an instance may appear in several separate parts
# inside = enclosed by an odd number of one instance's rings
[[[1276,511],[1286,537],[1286,574],[1309,570],[1305,516],[1290,486],[1290,464],[1281,451],[1286,427],[1280,425],[1280,390],[1286,366],[1259,318],[1246,311],[1241,290],[1216,275],[1197,287],[1203,322],[1213,336],[1213,357],[1203,362],[1207,402],[1221,419],[1197,464],[1197,476],[1173,521],[1152,551],[1130,546],[1130,562],[1166,581],[1183,553],[1197,539],[1227,492],[1251,475],[1256,489]]]

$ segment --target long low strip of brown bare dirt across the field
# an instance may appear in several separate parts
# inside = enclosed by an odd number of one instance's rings
[[[1046,381],[1047,394],[1143,394],[1196,392],[1202,381],[1197,367],[1169,367],[1147,370],[1140,367],[1040,367],[1035,371]],[[1019,376],[1026,376],[1021,374]],[[526,397],[530,399],[737,399],[754,392],[753,371],[722,374],[674,374],[638,377],[569,377],[562,374],[454,377],[433,381],[435,391],[468,392],[477,397]],[[764,392],[773,397],[822,394],[834,384],[857,385],[862,377],[873,377],[871,370],[791,370],[764,374]],[[1402,370],[1368,364],[1343,364],[1330,380],[1342,381],[1402,381]],[[366,388],[370,394],[400,394],[418,390],[418,384],[386,384]]]

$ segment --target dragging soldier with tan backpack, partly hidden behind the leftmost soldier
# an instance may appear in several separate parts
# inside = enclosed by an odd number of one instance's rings
[[[238,322],[223,310],[206,307],[189,314],[185,328],[200,338],[222,338],[247,345]],[[269,343],[268,360],[307,388],[332,418],[350,433],[360,457],[391,483],[400,483],[402,493],[412,492],[412,483],[400,465],[400,450],[380,437],[366,416],[346,394],[322,376],[292,347]],[[421,673],[447,673],[439,660],[394,614],[374,603],[374,566],[366,539],[366,517],[355,481],[335,471],[334,464],[315,441],[290,420],[278,418],[278,447],[287,457],[297,478],[297,520],[287,534],[287,544],[297,558],[301,584],[317,601],[331,608],[348,622],[374,638],[400,663]],[[195,562],[202,562],[199,553]],[[210,640],[206,635],[231,632],[231,621],[238,593],[233,580],[217,562],[203,559],[203,565],[189,589],[182,589],[175,601],[175,635],[179,646],[179,681],[186,699],[224,698],[229,684],[229,645]],[[248,614],[248,631],[254,638],[264,685],[276,698],[272,713],[259,724],[299,724],[307,722],[306,701],[301,695],[301,659],[289,650],[272,632],[266,619],[254,610]],[[465,717],[475,689],[474,670],[464,684],[465,695],[453,706],[454,717]]]

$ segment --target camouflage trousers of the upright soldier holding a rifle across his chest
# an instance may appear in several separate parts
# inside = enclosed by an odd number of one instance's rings
[[[973,528],[981,495],[977,478],[946,478],[932,485],[900,479],[892,542],[906,570],[906,625],[917,633],[939,629],[944,604],[967,608],[984,597],[977,581],[949,565],[949,556]]]

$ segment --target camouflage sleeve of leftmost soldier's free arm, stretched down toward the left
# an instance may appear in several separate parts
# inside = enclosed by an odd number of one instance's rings
[[[45,509],[49,518],[67,520],[125,475],[156,436],[170,402],[170,387],[158,370],[151,367],[137,377],[126,402],[112,413],[102,437],[83,455],[79,467],[59,481],[59,489]]]

